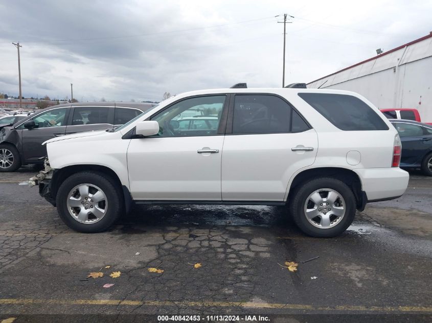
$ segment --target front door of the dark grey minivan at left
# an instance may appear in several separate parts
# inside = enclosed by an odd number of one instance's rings
[[[47,156],[47,147],[42,146],[42,142],[64,135],[69,110],[70,107],[54,108],[36,115],[31,118],[36,125],[33,129],[19,126],[26,163],[38,162],[41,157]]]

